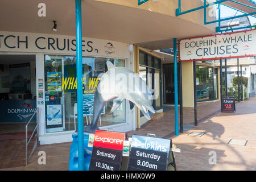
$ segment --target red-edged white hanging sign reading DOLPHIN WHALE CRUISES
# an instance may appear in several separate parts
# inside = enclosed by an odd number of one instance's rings
[[[214,60],[256,55],[256,30],[179,40],[179,60]]]

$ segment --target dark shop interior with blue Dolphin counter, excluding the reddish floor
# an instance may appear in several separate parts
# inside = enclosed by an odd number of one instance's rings
[[[0,134],[24,133],[35,109],[35,55],[0,55]]]

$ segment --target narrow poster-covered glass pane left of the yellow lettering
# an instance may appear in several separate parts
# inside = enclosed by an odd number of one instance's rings
[[[63,56],[45,56],[46,133],[65,131]]]

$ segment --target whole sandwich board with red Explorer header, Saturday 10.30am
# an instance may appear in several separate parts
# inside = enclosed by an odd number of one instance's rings
[[[90,171],[119,171],[121,169],[124,133],[97,130],[94,136]]]

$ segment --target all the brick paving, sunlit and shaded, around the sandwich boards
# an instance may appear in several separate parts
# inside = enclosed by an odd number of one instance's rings
[[[199,104],[198,126],[178,137],[174,132],[173,110],[157,121],[130,134],[155,133],[156,137],[171,138],[181,153],[175,153],[177,170],[256,170],[256,97],[236,105],[236,113],[220,113],[220,102]],[[192,109],[193,110],[193,109]],[[184,123],[193,123],[193,111],[184,109]],[[213,115],[214,113],[215,115]],[[168,127],[170,128],[168,130]],[[202,137],[190,137],[192,131],[205,132]],[[230,139],[247,140],[246,146],[228,144]],[[39,146],[27,167],[8,170],[68,170],[71,143]],[[38,164],[38,152],[46,151],[46,165]],[[209,159],[216,154],[216,164]],[[210,160],[214,162],[214,160]]]

